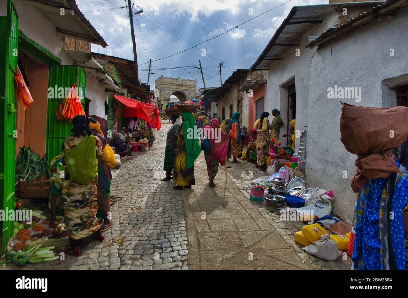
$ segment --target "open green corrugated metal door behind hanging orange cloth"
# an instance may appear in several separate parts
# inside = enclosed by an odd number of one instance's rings
[[[48,160],[51,161],[55,156],[60,155],[64,139],[71,134],[72,124],[68,121],[57,120],[56,111],[62,98],[58,94],[60,88],[69,88],[75,82],[77,88],[82,88],[83,98],[82,107],[85,104],[85,83],[86,73],[80,66],[71,65],[52,65],[49,74],[48,89]]]

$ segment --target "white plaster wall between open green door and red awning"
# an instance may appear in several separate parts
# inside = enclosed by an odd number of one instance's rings
[[[100,86],[99,81],[91,75],[86,77],[85,97],[91,101],[89,103],[89,115],[106,118],[105,101],[108,94],[105,88]]]

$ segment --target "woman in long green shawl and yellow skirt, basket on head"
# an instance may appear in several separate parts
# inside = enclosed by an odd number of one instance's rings
[[[175,151],[174,162],[174,189],[191,188],[195,185],[194,162],[201,153],[200,142],[195,127],[193,111],[196,105],[177,105],[177,109],[182,113],[182,123],[180,133],[177,138],[177,149]]]

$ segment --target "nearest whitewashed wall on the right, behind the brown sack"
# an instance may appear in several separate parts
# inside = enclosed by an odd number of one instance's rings
[[[407,13],[408,8],[401,9],[392,20],[376,21],[334,39],[333,56],[331,44],[325,44],[311,59],[307,182],[310,187],[333,190],[333,213],[349,222],[355,205],[350,180],[355,173],[356,156],[348,153],[340,141],[341,104],[337,99],[327,98],[327,89],[335,84],[361,87],[361,102],[354,99],[344,102],[368,107],[382,107],[383,103],[389,106],[389,90],[383,90],[382,81],[408,73]],[[390,48],[395,50],[394,57],[390,57]],[[346,179],[342,177],[343,171],[347,171]]]

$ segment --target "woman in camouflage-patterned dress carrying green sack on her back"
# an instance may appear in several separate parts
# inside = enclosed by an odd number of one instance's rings
[[[93,200],[94,185],[98,180],[96,155],[102,155],[102,142],[97,136],[91,136],[89,118],[86,116],[73,117],[72,125],[73,134],[65,138],[61,151],[63,164],[67,165],[64,180],[62,180],[62,201],[65,228],[72,246],[66,250],[66,253],[79,256],[82,253],[82,246],[93,239],[104,240],[96,219],[96,204]],[[78,153],[75,152],[77,146],[81,147]],[[86,155],[85,162],[75,162],[74,152],[76,155]],[[89,152],[93,154],[87,154]],[[91,176],[94,178],[89,182]],[[83,180],[75,181],[73,177],[82,177]]]

